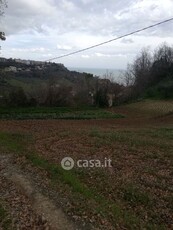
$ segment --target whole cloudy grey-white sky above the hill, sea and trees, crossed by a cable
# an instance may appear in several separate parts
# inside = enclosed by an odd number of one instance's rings
[[[46,61],[173,17],[173,0],[9,0],[1,57]],[[173,21],[54,60],[66,67],[125,69],[143,47],[173,44]]]

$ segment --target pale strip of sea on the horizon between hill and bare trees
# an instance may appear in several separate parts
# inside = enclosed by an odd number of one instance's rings
[[[124,70],[122,69],[104,69],[104,68],[81,68],[81,67],[68,67],[70,71],[77,71],[80,73],[91,73],[94,76],[98,76],[100,78],[110,77],[113,78],[117,82],[123,82],[123,74]]]

